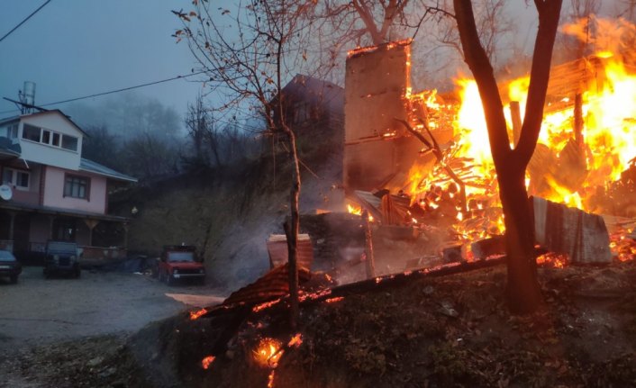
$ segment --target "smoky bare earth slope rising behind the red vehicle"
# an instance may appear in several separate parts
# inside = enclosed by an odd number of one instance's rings
[[[341,210],[341,157],[307,155],[301,168],[301,212]],[[310,167],[311,166],[311,167]],[[131,216],[131,255],[159,256],[167,244],[192,244],[202,253],[207,284],[235,289],[268,270],[265,241],[283,233],[289,214],[290,163],[284,155],[201,169],[140,185],[114,197],[111,210]]]

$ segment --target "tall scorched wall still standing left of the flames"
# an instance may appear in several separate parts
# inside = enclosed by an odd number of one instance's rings
[[[382,187],[408,171],[419,144],[404,137],[404,96],[410,90],[410,41],[392,42],[350,53],[345,75],[346,189]]]

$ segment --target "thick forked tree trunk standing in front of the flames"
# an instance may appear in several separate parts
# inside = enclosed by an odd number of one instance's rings
[[[559,26],[562,0],[534,0],[539,13],[539,29],[532,55],[526,113],[521,137],[514,149],[508,138],[494,70],[479,41],[472,2],[453,0],[453,5],[464,59],[477,81],[481,95],[499,196],[504,208],[508,302],[514,312],[532,312],[541,304],[541,289],[536,275],[534,224],[524,179],[525,169],[541,131],[550,78],[550,58]]]

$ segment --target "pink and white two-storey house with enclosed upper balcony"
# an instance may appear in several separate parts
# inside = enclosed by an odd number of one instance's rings
[[[137,179],[82,158],[85,137],[59,110],[0,120],[0,248],[33,257],[56,239],[85,258],[125,256],[129,220],[108,214],[108,193]]]

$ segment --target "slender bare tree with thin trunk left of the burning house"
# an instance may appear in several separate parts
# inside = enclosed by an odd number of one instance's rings
[[[186,38],[210,89],[225,98],[219,112],[230,108],[260,114],[268,133],[286,137],[292,160],[291,222],[286,228],[289,253],[292,325],[298,309],[296,241],[298,238],[300,171],[295,133],[286,124],[283,83],[301,67],[301,50],[307,38],[313,2],[297,0],[250,0],[232,9],[219,9],[209,2],[193,1],[191,12],[173,11],[184,23],[175,32]],[[276,114],[277,113],[277,114]],[[279,120],[276,119],[279,117]]]

